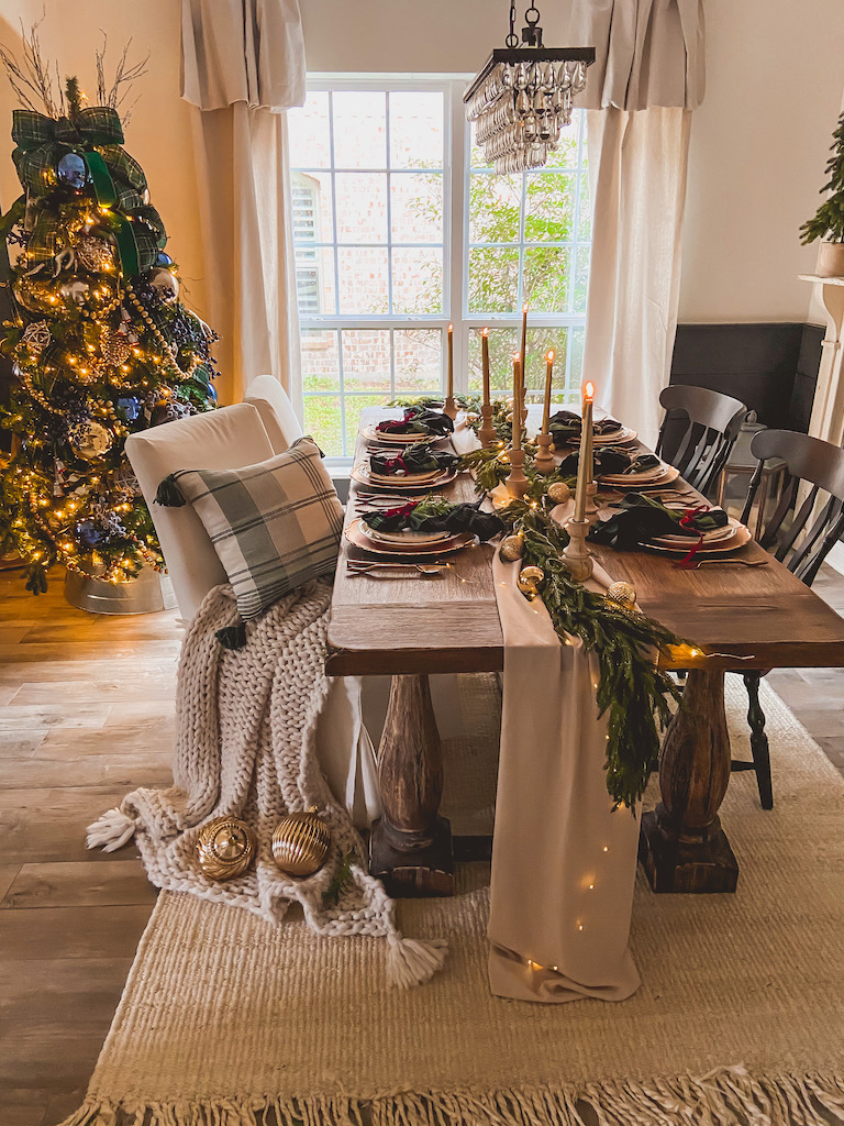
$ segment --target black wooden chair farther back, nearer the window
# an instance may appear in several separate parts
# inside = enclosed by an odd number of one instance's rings
[[[676,426],[685,421],[676,449],[666,461],[704,495],[712,490],[747,418],[747,408],[738,399],[707,387],[665,387],[659,394],[665,418],[659,429],[656,453],[672,446]]]

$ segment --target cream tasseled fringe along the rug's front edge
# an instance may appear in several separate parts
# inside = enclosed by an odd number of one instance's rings
[[[844,1076],[754,1076],[728,1067],[701,1079],[500,1091],[401,1092],[379,1099],[214,1099],[111,1102],[89,1098],[62,1126],[829,1126],[844,1123]]]

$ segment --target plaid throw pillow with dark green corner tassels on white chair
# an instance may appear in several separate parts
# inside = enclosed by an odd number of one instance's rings
[[[194,506],[242,618],[334,573],[343,509],[313,438],[240,470],[179,470],[161,482],[155,500]]]

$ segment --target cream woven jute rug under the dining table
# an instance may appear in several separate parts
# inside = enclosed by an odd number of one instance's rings
[[[731,679],[731,678],[730,678]],[[449,747],[468,816],[488,815],[487,678],[457,678],[481,735]],[[404,901],[445,969],[384,981],[377,939],[320,939],[162,894],[74,1126],[733,1126],[844,1120],[844,783],[763,683],[773,811],[733,777],[722,821],[736,895],[654,895],[640,879],[630,1000],[541,1007],[486,983],[487,872],[451,900]],[[748,754],[740,680],[734,751]],[[526,748],[526,766],[529,748]],[[459,804],[459,803],[457,803]],[[653,801],[650,803],[653,804]],[[526,815],[529,812],[526,811]]]

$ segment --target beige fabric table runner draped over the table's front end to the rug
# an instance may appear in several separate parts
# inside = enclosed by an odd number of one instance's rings
[[[477,448],[472,430],[452,438]],[[553,513],[571,516],[571,501]],[[541,599],[519,591],[518,563],[493,561],[504,634],[504,692],[490,887],[490,985],[499,997],[623,1001],[639,985],[628,948],[639,811],[613,812],[598,659],[562,642]],[[587,583],[605,590],[595,568]]]

